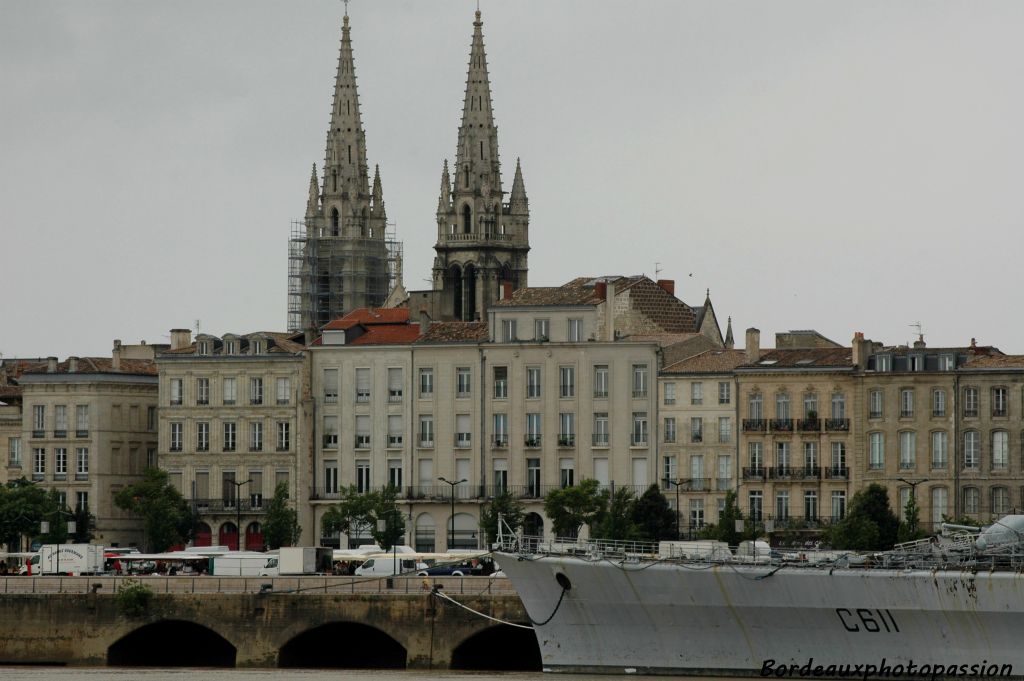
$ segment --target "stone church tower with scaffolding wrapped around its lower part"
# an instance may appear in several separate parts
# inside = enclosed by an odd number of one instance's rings
[[[379,169],[370,186],[346,12],[324,176],[317,179],[313,165],[305,220],[293,227],[289,243],[290,330],[317,329],[384,302],[390,285],[386,225]]]

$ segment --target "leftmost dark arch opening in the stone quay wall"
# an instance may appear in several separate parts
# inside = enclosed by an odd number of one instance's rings
[[[109,667],[234,667],[236,648],[217,632],[183,620],[155,622],[106,649]]]

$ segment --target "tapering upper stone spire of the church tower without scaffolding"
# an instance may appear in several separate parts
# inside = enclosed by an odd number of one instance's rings
[[[466,96],[456,150],[456,193],[501,193],[501,166],[498,160],[498,128],[490,108],[490,79],[487,55],[483,50],[483,22],[476,10],[473,44],[469,50]],[[490,199],[490,197],[484,197]]]

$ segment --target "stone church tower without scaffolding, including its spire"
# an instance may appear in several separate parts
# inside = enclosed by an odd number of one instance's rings
[[[518,161],[504,203],[482,27],[477,10],[455,168],[450,174],[444,162],[434,246],[435,313],[465,321],[485,318],[503,284],[526,286],[529,251],[529,205]]]

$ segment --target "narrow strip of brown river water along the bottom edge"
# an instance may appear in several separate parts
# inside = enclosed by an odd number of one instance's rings
[[[583,674],[541,674],[537,672],[395,672],[377,670],[301,670],[301,669],[153,669],[153,668],[94,668],[94,667],[3,667],[3,681],[136,681],[142,675],[145,681],[613,681],[612,676]],[[728,681],[723,677],[714,680],[697,677],[631,677],[647,681]]]

